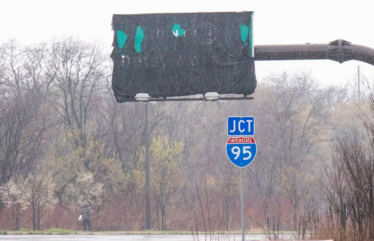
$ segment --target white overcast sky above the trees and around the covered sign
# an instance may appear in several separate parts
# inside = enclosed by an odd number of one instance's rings
[[[116,14],[164,12],[254,11],[254,43],[328,43],[338,38],[374,48],[374,1],[331,0],[102,0],[102,1],[2,1],[0,44],[10,38],[22,45],[49,41],[53,36],[74,35],[99,40],[109,54],[113,41],[111,18]],[[321,84],[354,81],[357,66],[367,78],[374,66],[350,60],[288,60],[256,62],[257,79],[269,72],[311,70]]]

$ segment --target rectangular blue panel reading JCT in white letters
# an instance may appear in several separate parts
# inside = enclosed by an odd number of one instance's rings
[[[227,117],[227,135],[245,136],[254,135],[253,116],[229,116]]]

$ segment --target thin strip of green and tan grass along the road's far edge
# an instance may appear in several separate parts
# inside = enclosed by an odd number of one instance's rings
[[[195,233],[195,232],[194,232]],[[287,235],[292,234],[294,232],[291,231],[280,231],[279,234]],[[19,229],[18,231],[0,231],[0,235],[27,235],[27,234],[36,234],[36,235],[191,235],[190,231],[98,231],[98,232],[90,232],[90,231],[73,231],[69,229],[61,229],[61,228],[52,228],[47,230],[37,230],[37,231],[30,231],[24,228]],[[199,231],[199,235],[205,234],[204,231]],[[213,232],[212,232],[213,234]],[[240,231],[229,231],[226,232],[229,235],[240,235]],[[245,235],[262,235],[263,232],[260,230],[254,230],[251,232],[245,232]],[[209,235],[209,231],[208,231]],[[214,232],[214,235],[219,235]]]

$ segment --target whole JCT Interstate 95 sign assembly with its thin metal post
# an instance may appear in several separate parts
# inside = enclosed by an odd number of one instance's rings
[[[253,138],[253,116],[229,116],[227,118],[227,135],[229,135],[229,140],[226,143],[227,157],[235,166],[240,168],[240,229],[242,241],[244,241],[243,168],[253,161],[257,152],[257,145]]]

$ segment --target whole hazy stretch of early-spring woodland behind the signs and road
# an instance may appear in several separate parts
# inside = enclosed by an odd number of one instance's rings
[[[145,105],[116,103],[111,68],[76,38],[0,47],[1,230],[79,230],[86,203],[96,231],[145,227]],[[355,85],[294,70],[258,80],[254,100],[151,103],[152,227],[239,229],[226,121],[248,115],[257,154],[244,169],[246,229],[373,240],[374,101],[363,84],[357,103]]]

